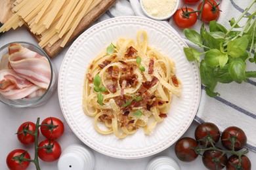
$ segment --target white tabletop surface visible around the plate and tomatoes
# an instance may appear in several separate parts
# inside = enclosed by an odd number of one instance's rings
[[[8,42],[13,41],[28,41],[32,42],[33,44],[36,44],[35,40],[32,38],[30,33],[26,31],[24,28],[17,29],[15,31],[9,31],[2,35],[0,37],[0,46],[3,46],[4,44],[7,44]],[[66,48],[63,52],[58,54],[55,58],[52,59],[53,63],[56,65],[58,71],[60,70],[60,65],[62,63],[62,59],[64,58],[64,55],[66,53],[68,48]],[[44,118],[47,118],[49,116],[54,116],[56,118],[59,118],[64,122],[65,126],[65,132],[60,139],[57,139],[58,143],[62,146],[62,150],[64,150],[67,146],[70,144],[83,144],[79,139],[74,135],[68,124],[64,120],[64,116],[62,115],[62,111],[60,109],[60,105],[58,103],[58,92],[54,92],[53,96],[47,103],[42,105],[41,107],[36,107],[33,109],[15,109],[12,107],[8,107],[7,105],[4,105],[3,103],[0,103],[0,139],[1,139],[1,146],[0,146],[0,169],[8,169],[7,164],[5,163],[7,154],[11,152],[11,150],[14,150],[16,148],[22,148],[24,150],[28,150],[30,153],[30,156],[33,158],[33,144],[29,146],[24,146],[21,144],[15,133],[23,122],[31,121],[36,122],[37,118],[39,117],[40,120],[43,120]],[[183,136],[190,136],[194,137],[194,129],[198,123],[192,122],[191,126],[188,128],[186,133],[184,133]],[[39,135],[39,141],[43,141],[45,138],[43,135]],[[89,148],[91,149],[91,148]],[[135,160],[123,160],[118,158],[112,158],[109,156],[105,156],[103,154],[100,154],[93,150],[93,153],[95,154],[95,170],[130,170],[130,169],[145,169],[146,165],[148,165],[149,161],[152,160],[152,158],[158,157],[158,156],[169,156],[179,163],[181,169],[205,169],[202,163],[202,156],[198,156],[198,158],[191,162],[191,163],[184,163],[182,161],[179,161],[174,152],[174,145],[170,146],[166,150],[163,150],[162,152],[154,155],[149,156],[147,158],[140,158]],[[251,169],[256,169],[256,165],[253,162],[253,160],[256,160],[256,153],[255,152],[249,152],[247,154],[249,159],[251,160],[252,167]],[[39,160],[39,164],[41,169],[57,169],[57,163],[58,161],[54,161],[51,163],[47,163],[44,161]],[[30,164],[30,167],[28,169],[35,169],[35,166],[33,163]]]

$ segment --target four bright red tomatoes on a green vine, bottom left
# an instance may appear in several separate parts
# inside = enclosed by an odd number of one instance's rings
[[[38,144],[39,128],[46,139]],[[61,146],[55,140],[61,137],[63,133],[63,122],[58,118],[49,117],[45,118],[41,124],[39,124],[39,118],[37,119],[37,124],[24,122],[18,127],[16,135],[18,141],[22,144],[35,144],[35,156],[38,156],[43,161],[51,162],[58,160],[60,157]],[[38,161],[35,160],[30,159],[30,154],[26,150],[15,149],[8,154],[6,162],[9,169],[15,170],[26,169],[30,162],[39,167]]]

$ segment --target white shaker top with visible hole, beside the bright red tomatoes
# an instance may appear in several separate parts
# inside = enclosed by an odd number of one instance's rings
[[[91,150],[79,144],[65,148],[58,160],[59,170],[93,170],[95,156]]]

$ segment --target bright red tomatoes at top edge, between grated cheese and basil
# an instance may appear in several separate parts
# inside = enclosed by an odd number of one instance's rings
[[[195,4],[200,0],[184,0],[185,3]],[[203,0],[195,11],[191,8],[178,9],[173,15],[173,21],[181,29],[192,27],[200,19],[205,23],[217,20],[220,16],[219,4],[214,0]]]

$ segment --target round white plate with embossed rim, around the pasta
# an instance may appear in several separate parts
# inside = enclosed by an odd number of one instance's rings
[[[111,42],[124,37],[136,39],[137,32],[148,33],[150,46],[158,48],[176,63],[177,76],[182,82],[182,96],[173,97],[167,118],[144,135],[142,129],[125,139],[113,134],[101,135],[93,127],[93,118],[82,109],[85,71],[89,63]],[[94,150],[116,158],[142,158],[165,150],[188,129],[200,102],[201,82],[198,67],[184,56],[186,46],[181,37],[167,25],[137,16],[112,18],[87,29],[69,48],[60,68],[58,97],[60,107],[75,135]]]

